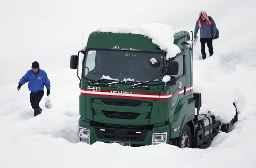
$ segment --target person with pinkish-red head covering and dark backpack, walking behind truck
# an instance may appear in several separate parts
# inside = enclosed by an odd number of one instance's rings
[[[209,48],[209,54],[214,54],[214,48],[212,47],[212,39],[215,38],[217,28],[214,19],[209,19],[205,11],[199,13],[199,18],[196,22],[194,38],[197,38],[198,30],[200,29],[200,42],[201,42],[201,53],[203,59],[206,58],[205,43]]]

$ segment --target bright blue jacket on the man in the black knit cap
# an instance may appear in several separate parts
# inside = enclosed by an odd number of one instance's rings
[[[28,87],[32,92],[44,90],[44,85],[47,89],[51,88],[51,82],[49,81],[46,72],[42,69],[38,69],[37,74],[34,74],[32,69],[28,70],[18,84],[24,85],[27,82],[29,82]]]

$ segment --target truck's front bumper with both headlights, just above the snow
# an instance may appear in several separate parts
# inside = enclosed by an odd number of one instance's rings
[[[96,141],[118,143],[123,146],[140,147],[169,143],[170,126],[125,126],[86,122],[79,119],[79,141],[93,144]]]

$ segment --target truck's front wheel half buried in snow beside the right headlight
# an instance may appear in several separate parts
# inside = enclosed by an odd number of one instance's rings
[[[178,147],[179,148],[191,148],[192,143],[191,143],[191,131],[190,127],[188,124],[185,124],[181,136],[178,139]]]

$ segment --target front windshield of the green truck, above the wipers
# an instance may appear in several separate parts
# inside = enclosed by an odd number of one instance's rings
[[[162,53],[91,50],[86,53],[82,74],[89,80],[109,76],[117,81],[160,82],[163,78],[163,64],[160,64],[162,62]]]

